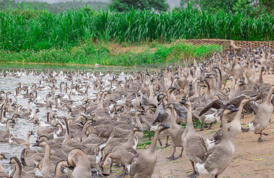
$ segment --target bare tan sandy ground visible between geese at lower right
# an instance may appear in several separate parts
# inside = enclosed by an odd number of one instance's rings
[[[259,77],[259,73],[257,73]],[[274,75],[264,75],[264,82],[274,84]],[[246,81],[247,82],[247,81]],[[177,96],[181,99],[181,96]],[[247,128],[246,123],[252,121],[254,115],[245,115],[241,120],[244,128]],[[274,178],[274,117],[271,123],[265,129],[267,136],[262,136],[265,142],[257,142],[258,134],[249,131],[240,133],[233,141],[235,146],[235,158],[232,160],[226,170],[219,175],[219,178]],[[219,124],[213,125],[213,129],[199,132],[204,138],[211,138],[215,131],[219,129]],[[199,129],[196,129],[198,132]],[[162,138],[163,143],[165,139]],[[171,140],[169,140],[171,143]],[[158,144],[159,146],[159,144]],[[180,154],[180,148],[177,147],[175,157]],[[139,151],[139,150],[137,150]],[[183,151],[182,158],[169,161],[166,158],[172,154],[172,146],[156,150],[157,151],[157,165],[154,170],[152,178],[187,178],[187,175],[192,173],[191,162],[189,161],[186,152]],[[107,168],[105,168],[106,170]],[[115,169],[114,173],[122,171],[122,168]],[[105,173],[109,173],[106,171]],[[120,173],[111,175],[111,178],[120,175]],[[198,178],[208,177],[199,175]],[[125,178],[129,178],[127,175]]]

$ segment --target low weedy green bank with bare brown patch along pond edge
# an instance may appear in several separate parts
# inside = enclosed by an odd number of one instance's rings
[[[205,52],[220,50],[218,45],[192,45],[183,42],[171,44],[86,43],[70,48],[0,51],[0,62],[37,62],[60,64],[101,64],[113,66],[149,66],[172,63],[178,59],[201,57]]]

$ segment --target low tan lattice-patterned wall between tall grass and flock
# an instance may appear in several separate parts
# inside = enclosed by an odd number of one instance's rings
[[[257,48],[260,46],[264,46],[266,43],[261,41],[233,41],[233,40],[221,40],[221,39],[177,40],[177,41],[183,41],[186,43],[191,43],[193,45],[209,45],[209,44],[222,45],[223,49],[229,48],[230,44],[234,44],[240,47],[242,47],[243,45],[245,46],[251,45],[251,48]],[[270,41],[270,47],[274,48],[273,41]]]

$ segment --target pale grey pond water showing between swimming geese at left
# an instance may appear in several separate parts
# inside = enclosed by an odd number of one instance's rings
[[[51,70],[68,70],[68,71],[76,71],[76,69],[80,69],[81,71],[83,69],[85,69],[86,71],[89,71],[89,75],[91,75],[91,71],[94,68],[95,72],[102,72],[102,73],[107,73],[107,71],[112,70],[114,72],[114,74],[119,74],[120,73],[120,69],[122,72],[126,73],[126,72],[138,72],[139,70],[142,70],[145,72],[146,68],[135,68],[135,67],[113,67],[113,66],[100,66],[100,67],[95,67],[95,66],[85,66],[85,65],[55,65],[55,64],[24,64],[24,63],[0,63],[0,69],[4,69],[4,71],[6,72],[7,68],[34,68],[37,71],[42,71],[42,69],[47,69],[50,68]],[[149,69],[149,71],[154,71],[154,69]],[[89,77],[89,76],[88,76]],[[124,80],[125,77],[129,77],[129,75],[120,75],[119,76],[119,80]],[[76,85],[77,82],[75,82],[76,80],[78,80],[79,78],[84,78],[84,76],[79,76],[76,77],[76,75],[73,77],[73,81],[74,81],[74,86]],[[105,76],[104,80],[106,81],[106,83],[108,81],[110,81],[112,79],[112,77],[110,76]],[[24,97],[15,97],[15,88],[18,87],[18,83],[22,83],[23,86],[28,86],[30,87],[32,84],[36,84],[37,86],[39,86],[39,81],[42,80],[42,76],[41,75],[23,75],[20,78],[15,78],[15,77],[3,77],[0,74],[0,91],[3,90],[5,93],[7,91],[10,91],[11,94],[9,95],[9,98],[12,99],[12,102],[16,102],[18,105],[22,105],[23,108],[27,109],[27,100],[28,98],[24,98]],[[62,79],[61,75],[58,75],[56,77],[57,83],[55,84],[56,87],[59,88],[59,84],[60,82],[65,82],[67,83],[68,86],[71,85],[71,82],[69,82],[68,80]],[[91,89],[89,89],[89,93],[90,96],[89,98],[95,98],[95,96],[92,93],[97,93],[98,90],[94,90],[93,89],[93,83],[89,80],[85,81],[88,82],[89,85],[91,86]],[[50,86],[52,86],[53,84],[48,84],[48,83],[42,83],[42,85],[47,88]],[[108,89],[108,88],[106,88]],[[29,91],[32,91],[32,89],[30,89]],[[38,95],[45,100],[46,95],[48,94],[49,91],[51,91],[51,89],[46,89],[46,90],[37,90],[38,91]],[[24,94],[25,91],[21,91],[21,94]],[[64,91],[60,91],[59,89],[55,90],[55,93],[57,94],[64,94]],[[5,96],[5,94],[2,94],[2,96]],[[77,103],[81,102],[81,99],[83,98],[83,95],[73,95],[72,98],[73,100],[77,101]],[[36,102],[42,102],[42,100],[37,100]],[[75,104],[76,105],[76,104]],[[32,111],[34,112],[35,109],[37,109],[38,107],[36,107],[32,102],[30,104],[30,108],[32,109]],[[43,120],[43,121],[47,121],[47,112],[49,112],[49,108],[46,107],[41,107],[39,108],[39,110],[41,112],[38,113],[38,119],[39,120]],[[55,107],[53,108],[53,111],[55,110]],[[19,113],[20,114],[20,113]],[[58,116],[66,116],[66,111],[64,110],[57,110],[57,114]],[[13,113],[7,113],[6,117],[7,119],[10,119],[12,117]],[[45,128],[41,128],[42,130]],[[0,124],[0,130],[1,131],[5,131],[5,124]],[[28,122],[27,119],[21,119],[18,118],[18,120],[16,120],[16,124],[14,127],[10,128],[10,134],[13,134],[14,136],[17,136],[17,138],[22,138],[22,139],[26,139],[26,135],[28,133],[28,131],[33,131],[35,135],[31,135],[30,137],[30,148],[31,149],[38,149],[41,150],[40,147],[32,147],[32,145],[35,143],[36,139],[37,139],[37,125],[34,125],[33,123]],[[7,160],[3,159],[0,160],[0,164],[3,166],[4,170],[6,173],[9,172],[9,167],[12,166],[9,163],[9,158],[11,156],[16,156],[18,159],[21,155],[21,151],[23,148],[25,148],[26,146],[20,146],[20,145],[11,145],[9,142],[0,142],[0,151],[5,154],[5,156],[8,158]]]

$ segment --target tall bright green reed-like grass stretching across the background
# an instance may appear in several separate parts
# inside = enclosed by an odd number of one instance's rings
[[[176,39],[274,40],[274,16],[207,13],[188,7],[179,11],[130,12],[80,9],[53,14],[0,11],[0,49],[10,51],[66,48],[81,43],[109,41],[132,44]]]

